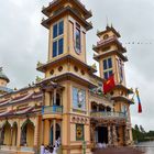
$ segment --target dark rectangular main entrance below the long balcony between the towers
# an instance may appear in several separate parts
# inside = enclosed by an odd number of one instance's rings
[[[108,128],[107,127],[98,127],[96,129],[96,142],[108,144]]]

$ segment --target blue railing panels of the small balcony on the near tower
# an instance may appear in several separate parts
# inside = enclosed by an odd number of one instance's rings
[[[52,113],[62,113],[63,107],[62,106],[46,106],[42,107],[42,114],[52,114]]]

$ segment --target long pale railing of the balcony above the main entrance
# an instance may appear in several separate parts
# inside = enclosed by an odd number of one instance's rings
[[[123,112],[106,112],[106,111],[92,111],[91,112],[91,118],[120,118],[120,119],[125,119],[127,116]]]

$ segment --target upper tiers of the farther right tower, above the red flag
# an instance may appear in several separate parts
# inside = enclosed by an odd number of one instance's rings
[[[94,46],[95,59],[99,62],[100,76],[108,79],[114,74],[117,84],[125,85],[124,63],[128,62],[127,50],[119,42],[121,35],[113,26],[106,28],[105,31],[97,33],[100,41]]]

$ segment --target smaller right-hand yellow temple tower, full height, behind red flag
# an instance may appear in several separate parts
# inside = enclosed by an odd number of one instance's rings
[[[125,144],[129,144],[132,142],[130,105],[133,103],[129,95],[133,91],[127,88],[125,82],[124,63],[128,58],[124,54],[127,48],[120,43],[121,35],[113,26],[107,25],[106,30],[98,32],[97,35],[99,42],[96,46],[94,45],[94,51],[97,53],[94,58],[99,63],[100,77],[108,79],[114,75],[116,88],[110,91],[110,95],[114,101],[114,111],[127,114]],[[122,134],[122,129],[119,129],[119,134]]]

